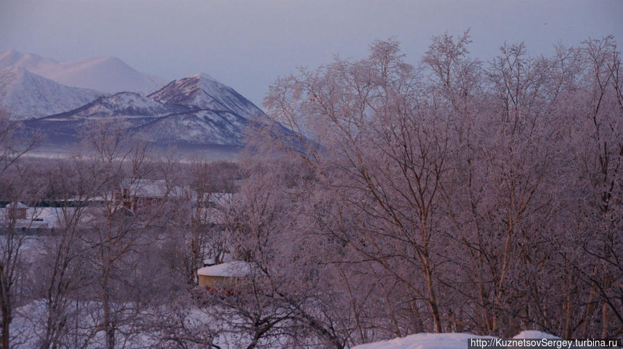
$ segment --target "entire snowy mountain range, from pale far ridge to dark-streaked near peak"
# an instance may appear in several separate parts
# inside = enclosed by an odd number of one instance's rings
[[[115,74],[108,74],[110,79],[125,74],[128,69],[133,70],[115,57],[59,63],[35,54],[6,51],[0,53],[2,66],[8,66],[4,69],[6,71],[20,72],[13,74],[11,79],[4,79],[9,82],[5,85],[17,86],[7,88],[10,92],[8,95],[13,91],[22,91],[22,95],[28,97],[21,98],[19,102],[24,103],[17,104],[33,106],[36,113],[28,111],[29,117],[17,118],[22,119],[30,131],[42,133],[47,138],[44,141],[46,147],[76,144],[86,129],[100,122],[113,122],[130,137],[155,146],[226,147],[222,149],[239,150],[245,145],[245,128],[264,124],[264,113],[258,106],[207,73],[175,79],[146,95],[140,91],[106,93],[64,86],[30,71],[45,70],[56,79],[63,74],[73,76],[77,71],[84,80],[101,80],[97,74],[87,74],[91,71],[89,69],[115,70]],[[33,83],[29,86],[31,80]],[[22,81],[26,83],[22,84]],[[20,90],[18,87],[22,85],[26,88]],[[53,96],[60,97],[60,100],[55,100]],[[15,113],[14,106],[10,109],[12,115],[25,114],[19,110]],[[277,125],[271,132],[288,131]]]

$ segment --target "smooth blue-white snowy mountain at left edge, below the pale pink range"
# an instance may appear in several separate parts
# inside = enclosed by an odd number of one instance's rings
[[[0,70],[0,109],[26,120],[75,109],[103,93],[64,86],[20,67]]]

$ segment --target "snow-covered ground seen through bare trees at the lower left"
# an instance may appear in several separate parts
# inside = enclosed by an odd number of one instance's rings
[[[119,319],[125,316],[132,317],[133,304],[125,303],[123,308],[128,310],[128,314],[118,313]],[[100,349],[105,348],[105,332],[98,330],[97,323],[101,319],[101,305],[98,302],[73,302],[68,305],[69,312],[78,317],[72,317],[77,323],[69,323],[71,327],[70,340],[73,343],[66,343],[69,349]],[[116,348],[124,349],[146,349],[146,348],[180,348],[175,341],[178,339],[188,339],[185,342],[188,349],[204,349],[209,348],[206,343],[213,339],[213,343],[222,349],[238,349],[241,343],[249,343],[251,340],[247,335],[241,334],[232,328],[235,323],[234,314],[228,317],[227,321],[218,319],[213,314],[224,314],[222,309],[218,311],[216,308],[189,308],[178,310],[177,316],[173,319],[164,319],[160,310],[165,309],[144,309],[139,310],[145,320],[142,326],[132,326],[128,323],[119,321],[119,327],[116,330],[115,341]],[[44,323],[47,317],[46,303],[43,299],[36,300],[27,305],[23,305],[15,310],[15,318],[10,324],[11,334],[14,343],[19,343],[19,349],[36,349],[38,348],[39,338],[44,334]],[[182,323],[175,323],[182,321]],[[161,327],[149,328],[151,321],[164,321]],[[171,322],[173,321],[173,322]],[[166,325],[165,325],[166,324]],[[173,330],[173,333],[168,331]],[[182,330],[183,329],[183,330]],[[75,332],[77,331],[77,332]],[[183,331],[183,332],[182,332]],[[192,338],[192,339],[191,339]],[[263,347],[265,348],[265,347]],[[287,348],[284,346],[274,346],[277,348]]]

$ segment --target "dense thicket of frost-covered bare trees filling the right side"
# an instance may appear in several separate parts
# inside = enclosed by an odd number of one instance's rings
[[[291,176],[280,224],[304,220],[310,240],[334,243],[300,253],[345,281],[323,285],[348,294],[340,335],[351,343],[431,330],[619,334],[613,39],[552,57],[504,44],[490,62],[471,59],[470,42],[434,37],[416,68],[378,41],[367,59],[277,80],[265,106],[293,133],[259,133],[251,149],[307,169],[257,170]]]

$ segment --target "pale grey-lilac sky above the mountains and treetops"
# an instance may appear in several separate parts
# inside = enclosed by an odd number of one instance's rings
[[[622,19],[623,0],[0,0],[0,51],[114,56],[165,79],[205,72],[261,106],[280,75],[365,57],[375,39],[394,36],[413,64],[433,35],[468,28],[481,59],[504,41],[548,55],[559,41],[620,44]]]

